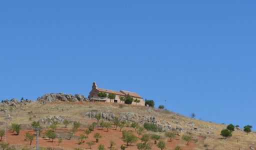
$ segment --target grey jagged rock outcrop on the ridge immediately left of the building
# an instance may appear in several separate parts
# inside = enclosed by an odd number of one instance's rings
[[[65,94],[65,93],[47,93],[37,98],[37,102],[39,103],[50,103],[55,101],[87,101],[84,95],[80,94]]]

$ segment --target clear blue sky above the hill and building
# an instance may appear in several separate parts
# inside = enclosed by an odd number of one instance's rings
[[[254,0],[0,1],[0,99],[126,89],[256,126]]]

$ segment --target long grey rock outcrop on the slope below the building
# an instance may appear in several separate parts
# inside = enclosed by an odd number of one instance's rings
[[[101,114],[103,119],[106,120],[112,120],[114,116],[116,116],[114,113],[106,113],[106,112],[84,112],[85,117],[89,118],[95,118],[96,114]],[[141,124],[148,122],[153,123],[157,125],[159,128],[161,128],[162,131],[170,130],[170,129],[179,129],[179,128],[173,128],[168,124],[166,121],[158,120],[156,116],[153,115],[140,115],[135,112],[121,112],[118,116],[119,120],[127,120],[131,122],[139,122]]]

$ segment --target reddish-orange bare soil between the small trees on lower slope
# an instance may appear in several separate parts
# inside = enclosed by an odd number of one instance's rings
[[[79,134],[84,134],[85,128],[80,128],[77,132],[75,132],[75,135],[78,136]],[[126,130],[133,130],[132,128],[124,128]],[[57,128],[55,130],[56,133],[63,133],[63,132],[68,132],[70,131],[70,128]],[[45,130],[43,130],[44,132]],[[7,131],[7,142],[10,144],[17,144],[17,145],[25,145],[25,146],[29,146],[29,141],[24,141],[24,133],[25,132],[31,132],[34,133],[35,132],[33,130],[21,130],[19,135],[15,135],[14,132],[12,131]],[[42,132],[42,133],[43,133]],[[93,134],[94,133],[100,133],[100,135],[102,136],[101,138],[99,138],[99,142],[95,142],[95,138],[93,138]],[[125,145],[125,143],[122,141],[121,138],[122,134],[119,131],[119,129],[117,128],[117,130],[111,128],[108,129],[108,131],[106,131],[106,129],[104,128],[103,130],[101,128],[94,128],[94,131],[92,131],[89,135],[88,138],[85,139],[86,141],[93,141],[95,142],[94,145],[91,146],[92,149],[97,149],[98,144],[102,143],[104,144],[105,148],[109,147],[109,141],[113,140],[115,142],[115,145],[113,147],[116,147],[117,149],[120,149],[120,146],[122,144]],[[166,144],[166,149],[174,149],[175,146],[179,145],[181,146],[182,149],[193,149],[194,147],[194,143],[190,142],[189,145],[186,145],[186,142],[183,140],[179,140],[179,139],[172,139],[172,141],[170,142],[168,138],[164,138],[163,139],[165,141]],[[49,140],[48,138],[42,138],[39,137],[39,145],[43,146],[43,147],[55,147],[55,148],[62,148],[62,149],[74,149],[74,148],[89,148],[89,146],[86,143],[82,143],[82,144],[77,144],[78,140],[77,139],[63,139],[62,143],[60,143],[60,145],[58,145],[57,143],[58,139],[54,139],[53,142],[51,142],[51,140]],[[35,146],[35,142],[36,140],[34,139],[32,141],[32,146]],[[140,140],[138,140],[138,142],[140,142]],[[153,143],[153,141],[151,141]],[[136,148],[136,144],[132,143],[132,145],[129,145],[127,148],[127,150],[135,150]],[[159,149],[156,144],[152,145],[152,149]]]

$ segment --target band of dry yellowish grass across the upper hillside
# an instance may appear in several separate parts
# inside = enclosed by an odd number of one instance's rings
[[[224,124],[188,118],[168,110],[145,106],[123,104],[123,107],[120,108],[118,103],[56,102],[38,104],[32,102],[9,111],[10,120],[8,120],[7,124],[9,126],[11,122],[17,122],[21,123],[23,127],[28,127],[32,120],[38,120],[48,115],[61,115],[70,116],[73,120],[79,120],[85,126],[88,124],[88,120],[83,117],[83,112],[88,111],[112,112],[117,115],[121,112],[155,115],[159,120],[166,120],[173,127],[182,127],[182,132],[192,133],[195,139],[194,149],[249,149],[249,146],[255,147],[256,135],[253,132],[246,135],[243,131],[235,130],[232,133],[232,137],[224,139],[220,136],[220,130],[225,128]],[[29,117],[31,117],[31,120],[29,120]],[[4,117],[0,117],[0,121],[4,121]],[[1,125],[0,127],[3,126]],[[194,127],[197,130],[194,130]]]

